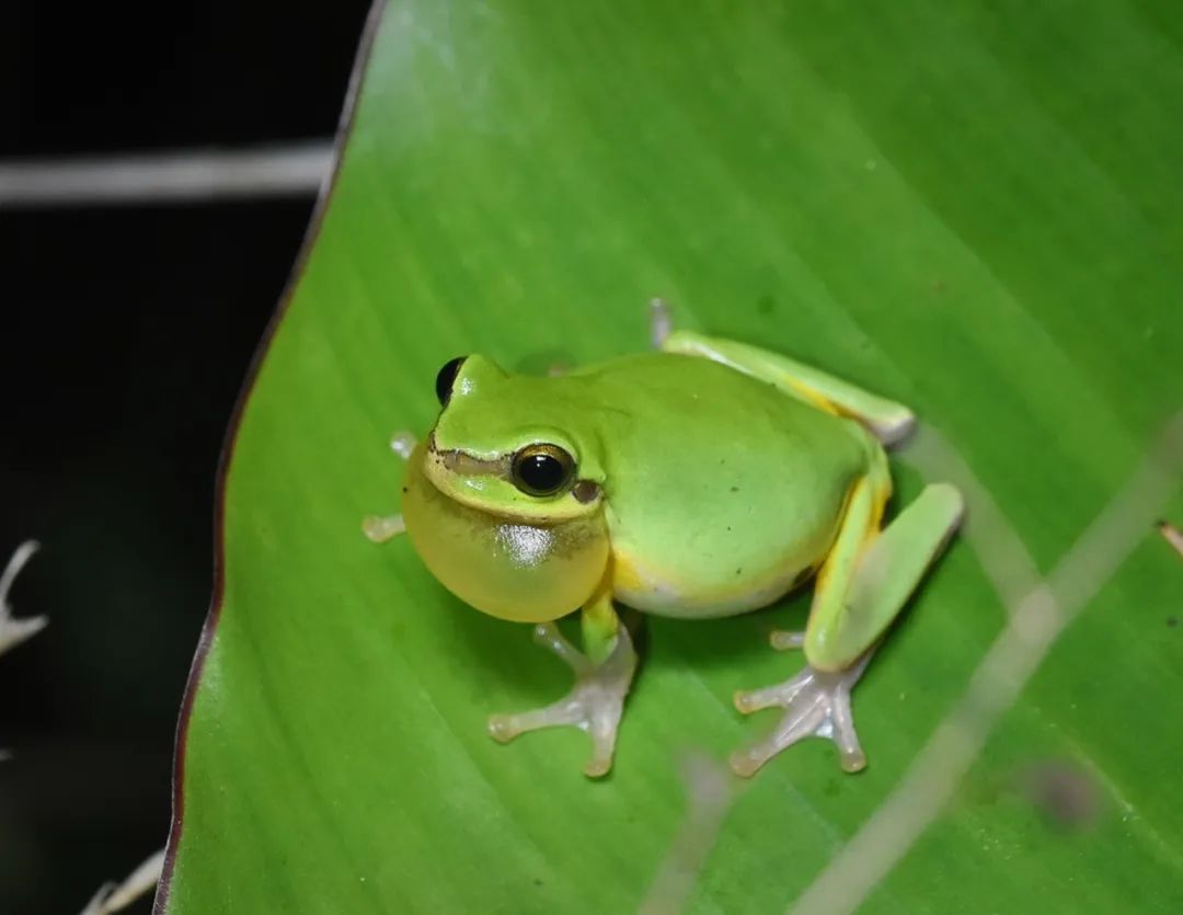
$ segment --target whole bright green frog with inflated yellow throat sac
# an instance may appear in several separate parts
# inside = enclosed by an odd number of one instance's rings
[[[589,735],[583,772],[606,775],[638,668],[623,614],[705,620],[768,607],[812,584],[804,629],[772,649],[804,666],[738,690],[742,714],[778,723],[730,756],[751,777],[807,737],[839,763],[867,762],[851,691],[965,514],[956,487],[929,483],[890,521],[886,450],[913,412],[770,349],[674,329],[651,303],[649,349],[547,375],[450,360],[425,440],[397,434],[401,513],[370,516],[376,542],[406,534],[461,601],[531,624],[574,674],[542,708],[489,719],[500,742],[550,727]],[[558,620],[580,617],[581,646]]]

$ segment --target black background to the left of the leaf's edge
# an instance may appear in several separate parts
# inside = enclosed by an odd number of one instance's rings
[[[0,162],[332,134],[366,0],[6,7]],[[0,913],[78,913],[164,843],[226,424],[312,196],[0,210]],[[147,902],[131,911],[149,909]]]

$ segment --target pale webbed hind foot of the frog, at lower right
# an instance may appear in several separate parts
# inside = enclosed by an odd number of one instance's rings
[[[786,644],[784,647],[796,647]],[[804,737],[827,737],[838,746],[842,768],[859,772],[867,758],[859,746],[851,715],[851,690],[862,676],[872,651],[846,670],[828,672],[807,665],[791,679],[764,689],[741,690],[735,695],[736,708],[748,715],[778,705],[784,709],[771,734],[748,749],[731,754],[731,768],[748,778],[782,749]]]

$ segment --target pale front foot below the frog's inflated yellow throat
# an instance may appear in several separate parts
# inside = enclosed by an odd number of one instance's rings
[[[534,638],[570,665],[575,671],[575,687],[552,705],[516,715],[491,716],[490,735],[506,743],[528,730],[563,724],[575,727],[592,737],[592,759],[583,767],[583,773],[592,778],[607,774],[612,768],[625,695],[636,670],[636,652],[628,629],[625,625],[619,627],[612,653],[599,665],[563,638],[554,623],[536,626]]]

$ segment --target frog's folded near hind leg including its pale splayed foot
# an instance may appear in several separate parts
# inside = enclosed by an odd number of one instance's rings
[[[851,690],[964,513],[961,494],[937,483],[880,533],[890,492],[883,465],[859,481],[817,575],[806,632],[774,633],[775,647],[804,649],[806,669],[778,685],[736,694],[736,708],[744,714],[772,705],[784,709],[767,739],[732,754],[737,774],[754,774],[782,749],[810,736],[834,741],[847,772],[866,766],[851,714]]]

